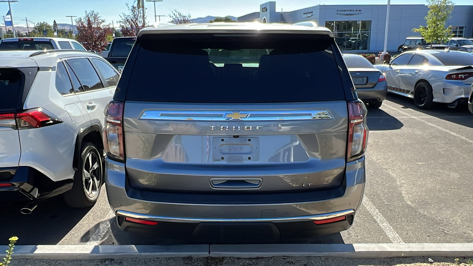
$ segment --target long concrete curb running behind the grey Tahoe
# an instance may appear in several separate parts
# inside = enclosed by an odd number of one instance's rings
[[[0,246],[6,250],[7,246]],[[3,256],[4,254],[0,254]],[[150,257],[473,257],[473,243],[263,245],[38,245],[16,246],[14,259]]]

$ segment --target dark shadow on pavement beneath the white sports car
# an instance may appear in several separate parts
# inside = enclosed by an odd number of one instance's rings
[[[403,109],[412,109],[425,115],[431,115],[455,124],[473,128],[473,114],[470,113],[467,105],[459,105],[456,108],[450,108],[447,107],[446,104],[435,104],[432,109],[422,110],[414,105],[414,101],[411,98],[403,97],[401,95],[388,93],[387,100],[401,105],[401,108]]]

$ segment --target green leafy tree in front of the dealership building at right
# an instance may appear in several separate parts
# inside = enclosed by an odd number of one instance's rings
[[[454,2],[451,0],[427,0],[429,12],[425,17],[426,27],[412,29],[424,37],[426,43],[430,43],[430,47],[434,42],[442,43],[451,38],[451,26],[446,27],[448,18],[452,13]]]

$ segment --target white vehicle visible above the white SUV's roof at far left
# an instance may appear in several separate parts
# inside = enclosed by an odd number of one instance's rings
[[[13,50],[80,50],[86,51],[82,44],[65,38],[32,37],[7,38],[0,40],[0,51]]]

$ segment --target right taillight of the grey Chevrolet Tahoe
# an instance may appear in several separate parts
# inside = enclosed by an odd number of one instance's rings
[[[361,101],[348,103],[349,129],[347,161],[363,156],[368,145],[368,127],[366,125],[366,107]]]

